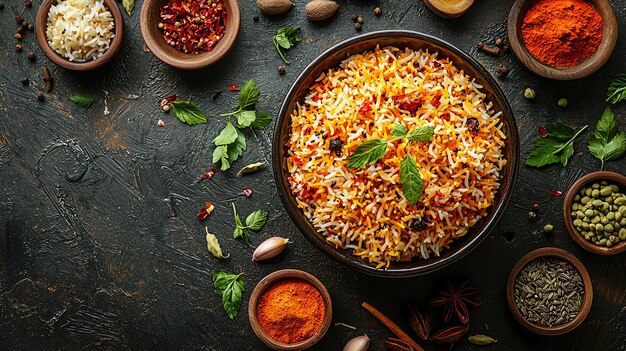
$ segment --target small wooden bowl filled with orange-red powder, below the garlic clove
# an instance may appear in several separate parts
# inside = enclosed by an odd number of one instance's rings
[[[332,303],[326,287],[309,273],[276,271],[254,288],[248,316],[254,333],[274,350],[305,350],[326,334]]]

